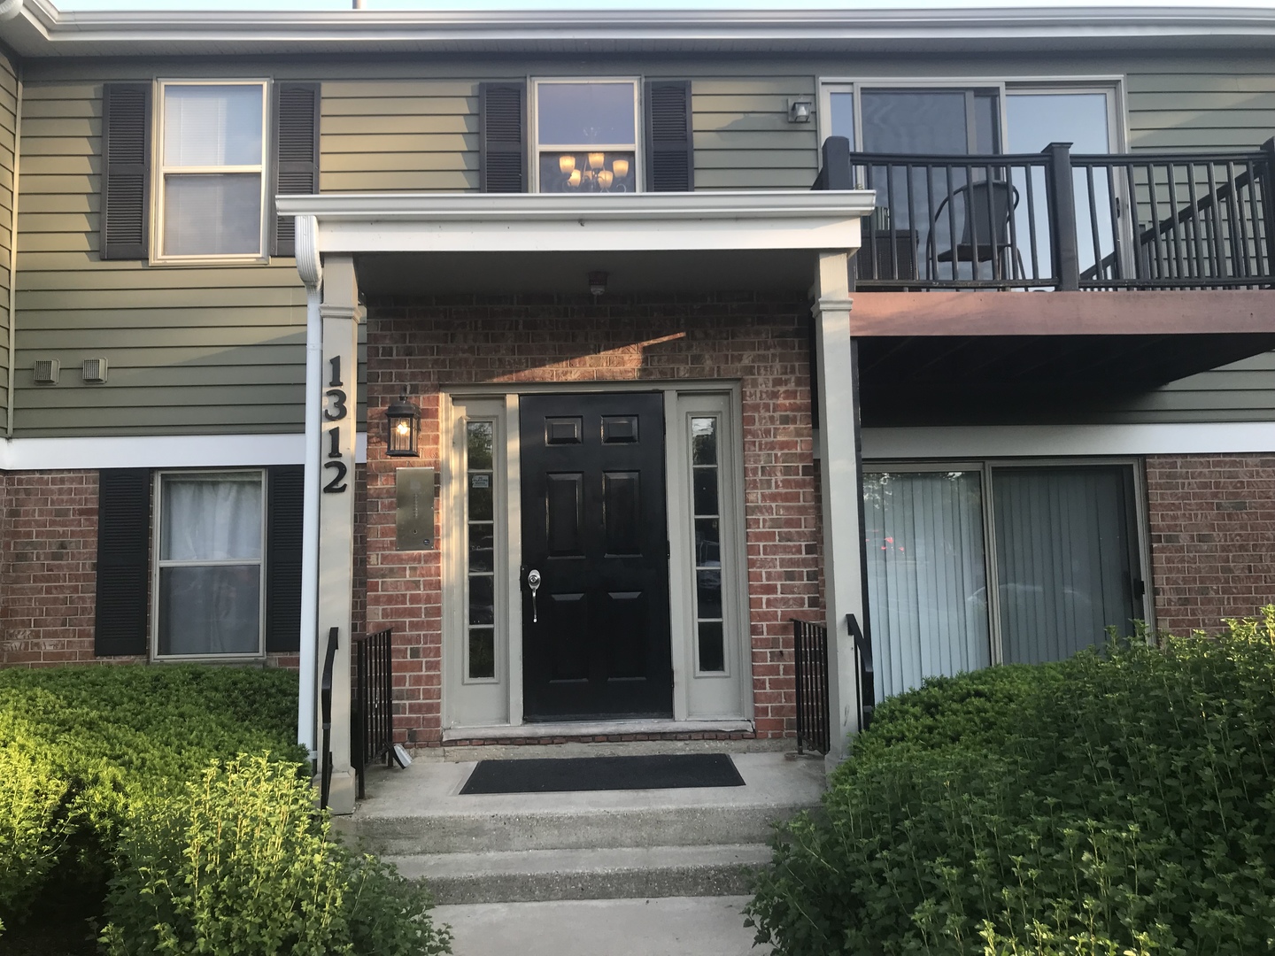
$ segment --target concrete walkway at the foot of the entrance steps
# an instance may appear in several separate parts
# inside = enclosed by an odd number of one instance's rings
[[[747,896],[567,900],[439,906],[455,956],[762,956]]]

